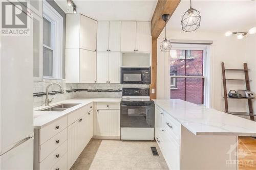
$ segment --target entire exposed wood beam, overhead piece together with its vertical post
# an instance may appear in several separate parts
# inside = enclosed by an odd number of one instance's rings
[[[150,89],[155,89],[155,93],[150,92],[151,99],[157,97],[157,38],[164,29],[165,23],[162,20],[163,14],[172,16],[179,5],[180,0],[158,0],[155,12],[151,20],[152,53],[151,53],[151,85]]]

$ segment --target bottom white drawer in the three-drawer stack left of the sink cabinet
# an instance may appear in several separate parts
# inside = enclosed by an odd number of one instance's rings
[[[53,151],[44,161],[40,163],[40,170],[51,169],[67,153],[67,140],[59,148]]]

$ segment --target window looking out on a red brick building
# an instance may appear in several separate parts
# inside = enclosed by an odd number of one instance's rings
[[[189,48],[185,45],[172,48],[168,67],[170,99],[205,104],[206,51],[206,48]]]

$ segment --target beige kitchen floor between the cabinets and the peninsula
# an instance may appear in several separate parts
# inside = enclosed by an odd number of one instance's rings
[[[159,156],[153,156],[156,147]],[[168,169],[156,142],[91,139],[72,170]]]

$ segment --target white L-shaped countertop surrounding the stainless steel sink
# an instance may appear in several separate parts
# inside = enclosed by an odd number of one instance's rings
[[[52,103],[49,106],[40,106],[34,108],[34,129],[40,129],[55,120],[66,116],[73,111],[86,106],[92,102],[111,102],[111,103],[120,103],[121,98],[74,98],[61,102]],[[56,106],[61,103],[70,103],[70,104],[78,104],[74,107],[71,107],[64,111],[40,111],[40,109],[49,108],[51,106]]]

